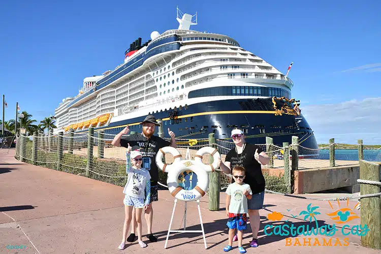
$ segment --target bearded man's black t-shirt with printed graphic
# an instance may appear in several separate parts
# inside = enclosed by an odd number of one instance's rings
[[[147,139],[141,133],[132,134],[120,139],[120,145],[123,147],[128,147],[129,143],[133,150],[139,149],[142,153],[142,168],[148,170],[151,175],[151,182],[157,182],[158,170],[155,163],[156,153],[160,148],[169,146],[170,142],[157,136],[152,136],[150,139]]]

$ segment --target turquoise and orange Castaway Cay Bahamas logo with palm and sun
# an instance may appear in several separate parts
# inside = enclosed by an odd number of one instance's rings
[[[346,206],[341,208],[339,201],[337,200],[338,209],[334,209],[331,202],[329,205],[333,212],[326,213],[333,221],[334,224],[321,224],[319,225],[316,216],[321,215],[319,212],[319,206],[312,206],[309,204],[306,210],[300,211],[299,214],[291,214],[292,218],[303,219],[298,223],[292,223],[289,219],[284,220],[286,216],[280,212],[272,212],[267,215],[273,224],[268,224],[264,228],[264,233],[267,236],[285,236],[285,246],[348,246],[349,238],[345,236],[356,235],[365,236],[369,228],[367,225],[348,225],[349,221],[359,219],[360,217],[348,207],[348,201],[346,200]],[[287,209],[288,212],[292,212]],[[291,217],[289,216],[289,217]],[[281,220],[283,219],[283,223]],[[335,236],[340,233],[344,238]]]

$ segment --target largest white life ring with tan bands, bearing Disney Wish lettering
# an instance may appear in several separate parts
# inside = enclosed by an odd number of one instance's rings
[[[187,170],[193,171],[197,175],[197,185],[189,190],[183,189],[178,183],[179,175]],[[173,197],[182,201],[188,202],[201,199],[208,190],[208,184],[208,173],[203,168],[200,168],[199,163],[195,161],[184,160],[176,163],[176,168],[168,172],[167,185],[169,192]]]

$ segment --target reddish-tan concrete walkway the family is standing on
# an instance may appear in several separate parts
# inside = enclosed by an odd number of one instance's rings
[[[14,159],[14,150],[9,154],[0,152],[0,253],[131,253],[141,251],[137,242],[128,245],[124,250],[117,247],[121,241],[124,219],[122,187],[88,179],[86,177],[58,172],[38,166],[21,163]],[[304,195],[308,196],[308,195]],[[331,196],[331,195],[329,195]],[[329,197],[313,195],[313,197]],[[311,195],[309,195],[311,197]],[[148,244],[145,253],[223,253],[227,245],[227,217],[225,214],[225,194],[220,197],[220,211],[208,210],[208,197],[201,200],[202,218],[206,233],[208,249],[205,250],[202,235],[199,233],[174,234],[170,236],[167,249],[164,249],[169,221],[173,209],[173,198],[168,190],[159,192],[159,202],[155,202],[153,231],[158,236],[156,243]],[[336,224],[337,232],[328,237],[317,236],[267,236],[264,227],[267,225],[294,224],[294,226],[310,225],[299,215],[307,209],[307,205],[319,206],[315,212],[319,226]],[[281,252],[281,253],[381,253],[379,250],[361,246],[361,238],[357,235],[343,236],[342,225],[350,227],[360,224],[356,218],[345,224],[337,224],[327,213],[339,208],[353,209],[357,200],[331,202],[309,201],[278,195],[265,195],[265,209],[261,210],[261,230],[258,248],[250,248],[251,238],[248,229],[244,233],[244,247],[247,253]],[[184,203],[178,202],[173,222],[173,229],[182,228]],[[268,218],[274,211],[283,216]],[[359,210],[353,209],[359,214]],[[273,214],[274,215],[274,214]],[[333,216],[334,217],[334,216]],[[278,218],[279,219],[279,218]],[[188,204],[187,230],[199,230],[199,218],[196,202]],[[288,220],[288,222],[286,222]],[[341,225],[341,226],[340,226]],[[268,226],[269,227],[269,226]],[[143,219],[143,235],[146,225]],[[267,232],[273,232],[268,229]],[[344,230],[344,233],[348,230]],[[304,244],[306,239],[307,246]],[[308,237],[311,246],[308,246]],[[316,240],[316,239],[317,240]],[[344,241],[344,238],[348,242]],[[290,240],[291,239],[291,240]],[[324,241],[332,246],[323,246]],[[338,239],[338,240],[337,240]],[[322,246],[317,245],[318,241]],[[347,245],[347,246],[340,246]],[[315,243],[315,246],[312,246]],[[336,243],[336,246],[334,246]],[[288,246],[290,245],[291,246]],[[26,246],[23,249],[8,249],[13,246]],[[234,244],[233,253],[239,253]],[[294,246],[296,245],[296,246]],[[7,248],[8,247],[8,248]]]

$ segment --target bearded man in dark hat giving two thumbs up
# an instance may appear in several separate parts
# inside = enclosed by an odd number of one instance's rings
[[[148,208],[144,211],[144,217],[147,222],[147,238],[151,242],[156,242],[157,238],[152,234],[152,220],[153,220],[153,208],[152,202],[158,200],[157,196],[157,181],[158,181],[158,169],[155,163],[156,153],[160,148],[165,146],[172,146],[176,148],[175,134],[169,130],[168,134],[171,137],[171,142],[165,141],[164,139],[154,136],[155,126],[160,126],[157,123],[153,115],[148,115],[140,124],[143,126],[142,133],[132,134],[128,137],[122,138],[122,135],[128,134],[130,132],[129,125],[127,125],[124,130],[122,130],[118,135],[115,136],[112,141],[114,146],[128,147],[129,144],[132,146],[133,150],[139,149],[142,154],[143,164],[142,168],[148,170],[151,175],[151,199]],[[128,167],[131,165],[127,165]],[[131,224],[131,235],[127,238],[127,241],[134,242],[137,237],[136,232],[136,220],[135,220],[135,209],[133,211]]]

